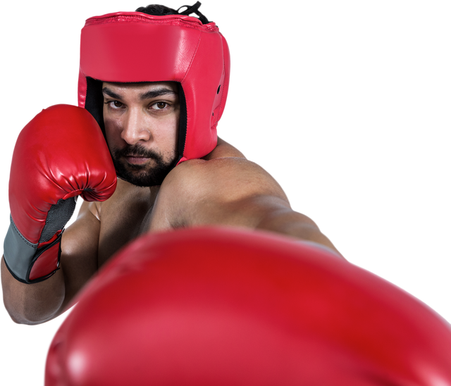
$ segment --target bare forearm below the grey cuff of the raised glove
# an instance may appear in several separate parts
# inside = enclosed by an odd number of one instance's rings
[[[0,258],[1,302],[9,318],[18,325],[37,325],[56,316],[64,299],[64,278],[61,269],[47,280],[35,284],[19,282]]]

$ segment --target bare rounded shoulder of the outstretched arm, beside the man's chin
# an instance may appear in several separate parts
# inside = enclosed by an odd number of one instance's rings
[[[221,156],[180,163],[161,185],[159,205],[166,218],[181,226],[228,224],[245,225],[232,213],[255,208],[271,201],[292,208],[280,181],[264,166],[246,156]],[[251,218],[251,216],[248,216]],[[176,227],[173,227],[176,228]]]

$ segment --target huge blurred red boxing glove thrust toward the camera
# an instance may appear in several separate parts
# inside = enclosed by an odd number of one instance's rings
[[[49,340],[44,386],[449,386],[450,323],[332,252],[228,228],[145,235]]]

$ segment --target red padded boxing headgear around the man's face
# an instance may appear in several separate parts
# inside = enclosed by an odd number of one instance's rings
[[[77,106],[105,135],[101,82],[178,82],[178,163],[217,144],[232,84],[232,51],[215,21],[120,9],[91,15],[78,32]]]

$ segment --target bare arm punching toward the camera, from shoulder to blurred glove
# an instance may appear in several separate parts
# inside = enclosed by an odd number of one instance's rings
[[[244,158],[192,160],[180,164],[167,189],[170,217],[187,226],[229,225],[276,232],[315,242],[342,256],[314,218],[293,208],[268,170]],[[343,259],[346,259],[343,256]]]

